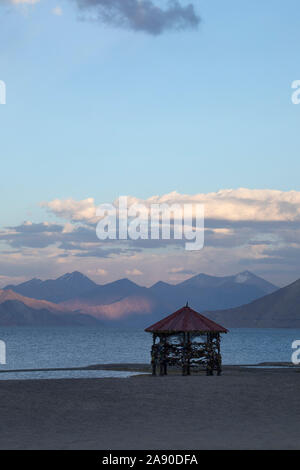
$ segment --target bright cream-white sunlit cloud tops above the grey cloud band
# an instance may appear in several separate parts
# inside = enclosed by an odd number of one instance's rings
[[[104,201],[109,202],[109,201]],[[128,197],[128,203],[150,204],[204,204],[205,218],[232,222],[291,222],[300,221],[300,191],[269,189],[223,189],[214,193],[195,195],[175,192],[148,199]],[[42,203],[56,216],[69,221],[95,223],[96,204],[93,198],[75,201],[55,199]]]

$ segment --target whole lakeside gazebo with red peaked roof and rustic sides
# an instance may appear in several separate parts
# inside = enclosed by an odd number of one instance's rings
[[[152,333],[152,375],[159,366],[160,375],[167,375],[167,367],[181,366],[182,375],[190,375],[191,368],[204,367],[207,375],[222,372],[221,333],[228,330],[185,307],[155,323],[146,332]]]

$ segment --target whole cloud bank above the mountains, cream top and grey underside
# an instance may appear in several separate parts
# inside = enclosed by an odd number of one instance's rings
[[[175,282],[198,272],[225,275],[249,269],[279,285],[300,277],[300,192],[240,188],[195,195],[172,192],[145,200],[130,197],[129,202],[148,208],[151,203],[204,204],[204,249],[189,254],[184,240],[101,242],[95,233],[93,198],[55,199],[43,207],[58,221],[27,221],[0,230],[1,275],[91,269],[102,281],[139,276],[141,283],[149,284]],[[97,272],[100,260],[107,276]]]

